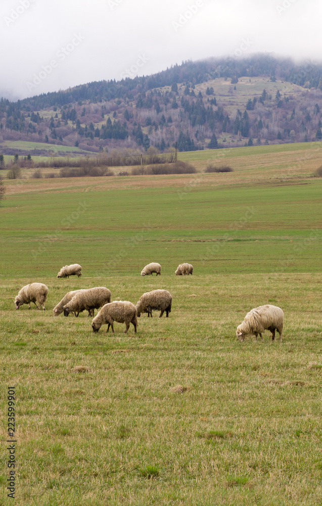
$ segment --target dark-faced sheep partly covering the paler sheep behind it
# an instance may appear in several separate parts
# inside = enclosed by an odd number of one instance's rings
[[[99,309],[108,302],[111,302],[111,292],[105,286],[89,288],[80,293],[76,293],[74,297],[64,306],[64,316],[74,313],[77,316],[82,311],[87,310],[90,316],[94,316],[94,309]]]

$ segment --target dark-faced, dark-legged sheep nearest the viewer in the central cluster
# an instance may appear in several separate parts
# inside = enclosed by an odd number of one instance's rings
[[[125,334],[130,327],[130,323],[133,324],[134,332],[136,332],[137,311],[134,304],[127,301],[114,301],[110,304],[105,304],[91,322],[91,328],[93,328],[93,332],[98,332],[104,323],[108,323],[107,332],[111,327],[114,334],[114,321],[125,323]]]

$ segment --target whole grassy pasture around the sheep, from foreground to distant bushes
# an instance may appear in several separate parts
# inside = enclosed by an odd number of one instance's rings
[[[322,503],[322,181],[316,146],[292,147],[231,150],[228,174],[6,181],[0,504],[12,385],[17,504]],[[151,261],[161,276],[141,277]],[[184,261],[193,276],[174,275]],[[81,278],[56,278],[74,262]],[[32,281],[49,287],[46,311],[16,311]],[[100,285],[133,303],[166,288],[170,317],[112,337],[85,313],[52,316],[67,291]],[[239,343],[263,304],[283,308],[283,342]]]

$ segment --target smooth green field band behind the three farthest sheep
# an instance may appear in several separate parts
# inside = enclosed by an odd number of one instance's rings
[[[100,181],[106,179],[114,178]],[[23,259],[22,276],[49,274],[53,261],[54,270],[87,265],[85,275],[136,275],[151,261],[168,272],[188,261],[196,274],[320,271],[319,179],[255,187],[181,183],[180,190],[131,179],[142,188],[8,196],[1,210],[2,276],[17,271],[13,252]]]

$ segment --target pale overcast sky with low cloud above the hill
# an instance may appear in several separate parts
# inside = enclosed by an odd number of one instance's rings
[[[320,61],[320,0],[1,0],[0,97],[211,56]]]

